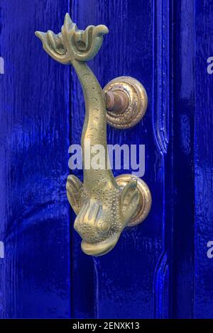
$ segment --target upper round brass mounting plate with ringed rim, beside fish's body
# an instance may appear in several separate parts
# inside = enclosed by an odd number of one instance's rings
[[[114,128],[124,129],[136,125],[146,113],[148,98],[143,85],[133,77],[116,77],[109,81],[103,89],[109,91],[122,91],[128,98],[128,106],[122,113],[107,110],[107,123]]]

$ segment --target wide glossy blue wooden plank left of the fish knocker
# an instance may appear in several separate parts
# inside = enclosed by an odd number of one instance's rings
[[[67,0],[1,1],[1,317],[70,317],[69,72],[35,30],[60,30]]]

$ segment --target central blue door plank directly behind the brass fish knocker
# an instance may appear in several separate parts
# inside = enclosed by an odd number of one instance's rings
[[[156,108],[153,101],[156,84],[153,43],[155,10],[152,1],[110,1],[109,4],[109,1],[81,0],[72,3],[72,18],[79,28],[86,28],[89,24],[105,24],[109,28],[102,49],[95,60],[89,62],[102,86],[115,77],[127,75],[135,77],[146,87],[148,111],[143,121],[129,130],[108,127],[107,131],[111,145],[146,145],[146,174],[143,179],[153,196],[153,206],[146,221],[137,227],[127,228],[116,247],[107,255],[92,258],[82,254],[80,237],[72,232],[72,252],[75,254],[72,262],[74,317],[153,317],[155,283],[164,283],[164,278],[167,278],[166,273],[158,271],[166,271],[167,268],[162,237],[165,168],[163,154],[153,135],[153,126],[157,135],[161,125],[153,120]],[[84,100],[80,83],[73,72],[72,94],[71,141],[79,143]],[[161,111],[157,108],[159,117]],[[114,175],[129,172],[131,169],[121,169],[114,171]],[[75,171],[75,174],[82,179],[82,171]],[[84,267],[89,268],[89,276]],[[91,290],[92,299],[89,298]],[[87,302],[82,302],[82,297],[87,298],[89,307]]]

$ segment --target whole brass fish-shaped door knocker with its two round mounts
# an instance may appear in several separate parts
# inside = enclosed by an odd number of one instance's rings
[[[146,112],[147,96],[143,86],[131,77],[112,80],[102,90],[86,64],[102,46],[106,26],[88,26],[78,30],[67,13],[61,33],[35,32],[45,51],[62,64],[72,64],[82,84],[86,114],[82,130],[82,151],[104,147],[104,164],[99,169],[84,167],[84,184],[76,176],[67,178],[67,197],[75,211],[75,230],[82,237],[82,251],[101,256],[116,245],[126,226],[142,222],[151,208],[148,186],[137,176],[124,174],[114,178],[109,169],[107,121],[115,128],[129,128]]]

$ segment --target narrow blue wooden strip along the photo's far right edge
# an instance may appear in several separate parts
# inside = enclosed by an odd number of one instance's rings
[[[213,259],[207,243],[213,241],[213,75],[207,58],[213,55],[213,4],[195,6],[195,307],[196,318],[213,317]]]

